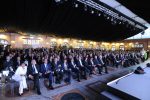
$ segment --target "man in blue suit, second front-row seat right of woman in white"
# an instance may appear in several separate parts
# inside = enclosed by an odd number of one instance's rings
[[[47,63],[47,59],[44,60],[44,63],[41,65],[40,72],[44,78],[48,78],[49,80],[49,88],[54,89],[52,86],[52,79],[53,79],[53,71],[51,69],[51,65]]]

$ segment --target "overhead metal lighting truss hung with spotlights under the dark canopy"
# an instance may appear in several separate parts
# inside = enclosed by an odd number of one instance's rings
[[[62,2],[67,2],[69,0],[55,0],[56,3],[62,3]],[[128,25],[131,25],[137,29],[140,30],[145,30],[147,27],[144,26],[143,24],[133,20],[132,18],[122,14],[121,12],[115,10],[114,8],[102,3],[100,0],[72,0],[74,2],[75,7],[77,8],[77,2],[84,4],[87,10],[87,6],[92,8],[93,10],[97,10],[96,12],[102,12],[106,17],[109,17],[109,19],[113,19],[112,22],[114,21],[120,21],[119,24],[121,23],[128,23]],[[92,14],[94,11],[92,10]],[[98,13],[98,16],[101,14]],[[111,17],[111,18],[110,18]]]

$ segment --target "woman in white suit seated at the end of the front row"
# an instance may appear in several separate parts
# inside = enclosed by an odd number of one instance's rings
[[[21,65],[17,68],[15,74],[12,76],[12,79],[19,82],[19,96],[23,95],[23,89],[28,90],[26,83],[26,73],[27,66],[22,62]]]

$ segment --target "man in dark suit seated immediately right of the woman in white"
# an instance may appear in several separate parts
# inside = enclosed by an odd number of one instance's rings
[[[34,89],[37,89],[37,94],[41,95],[40,84],[39,84],[39,71],[40,67],[36,64],[36,61],[33,59],[31,65],[27,69],[27,76],[29,79],[34,81]]]

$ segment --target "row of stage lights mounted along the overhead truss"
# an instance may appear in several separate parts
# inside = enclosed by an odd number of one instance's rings
[[[60,3],[60,2],[65,2],[65,1],[69,1],[69,0],[55,0],[56,3]],[[91,14],[94,14],[95,12],[98,13],[98,16],[101,16],[102,14],[104,15],[104,17],[106,17],[107,20],[110,20],[112,22],[112,24],[127,24],[126,26],[129,27],[134,27],[133,29],[135,30],[137,29],[141,29],[141,30],[145,30],[145,27],[143,27],[142,25],[136,23],[133,20],[130,20],[124,16],[121,16],[120,14],[118,14],[117,12],[114,12],[113,10],[100,5],[97,2],[94,2],[93,0],[72,0],[74,2],[74,7],[78,8],[79,4],[78,3],[82,3],[84,4],[84,10],[87,11],[87,6],[92,8],[93,10],[91,10]],[[97,10],[97,11],[95,11]]]

